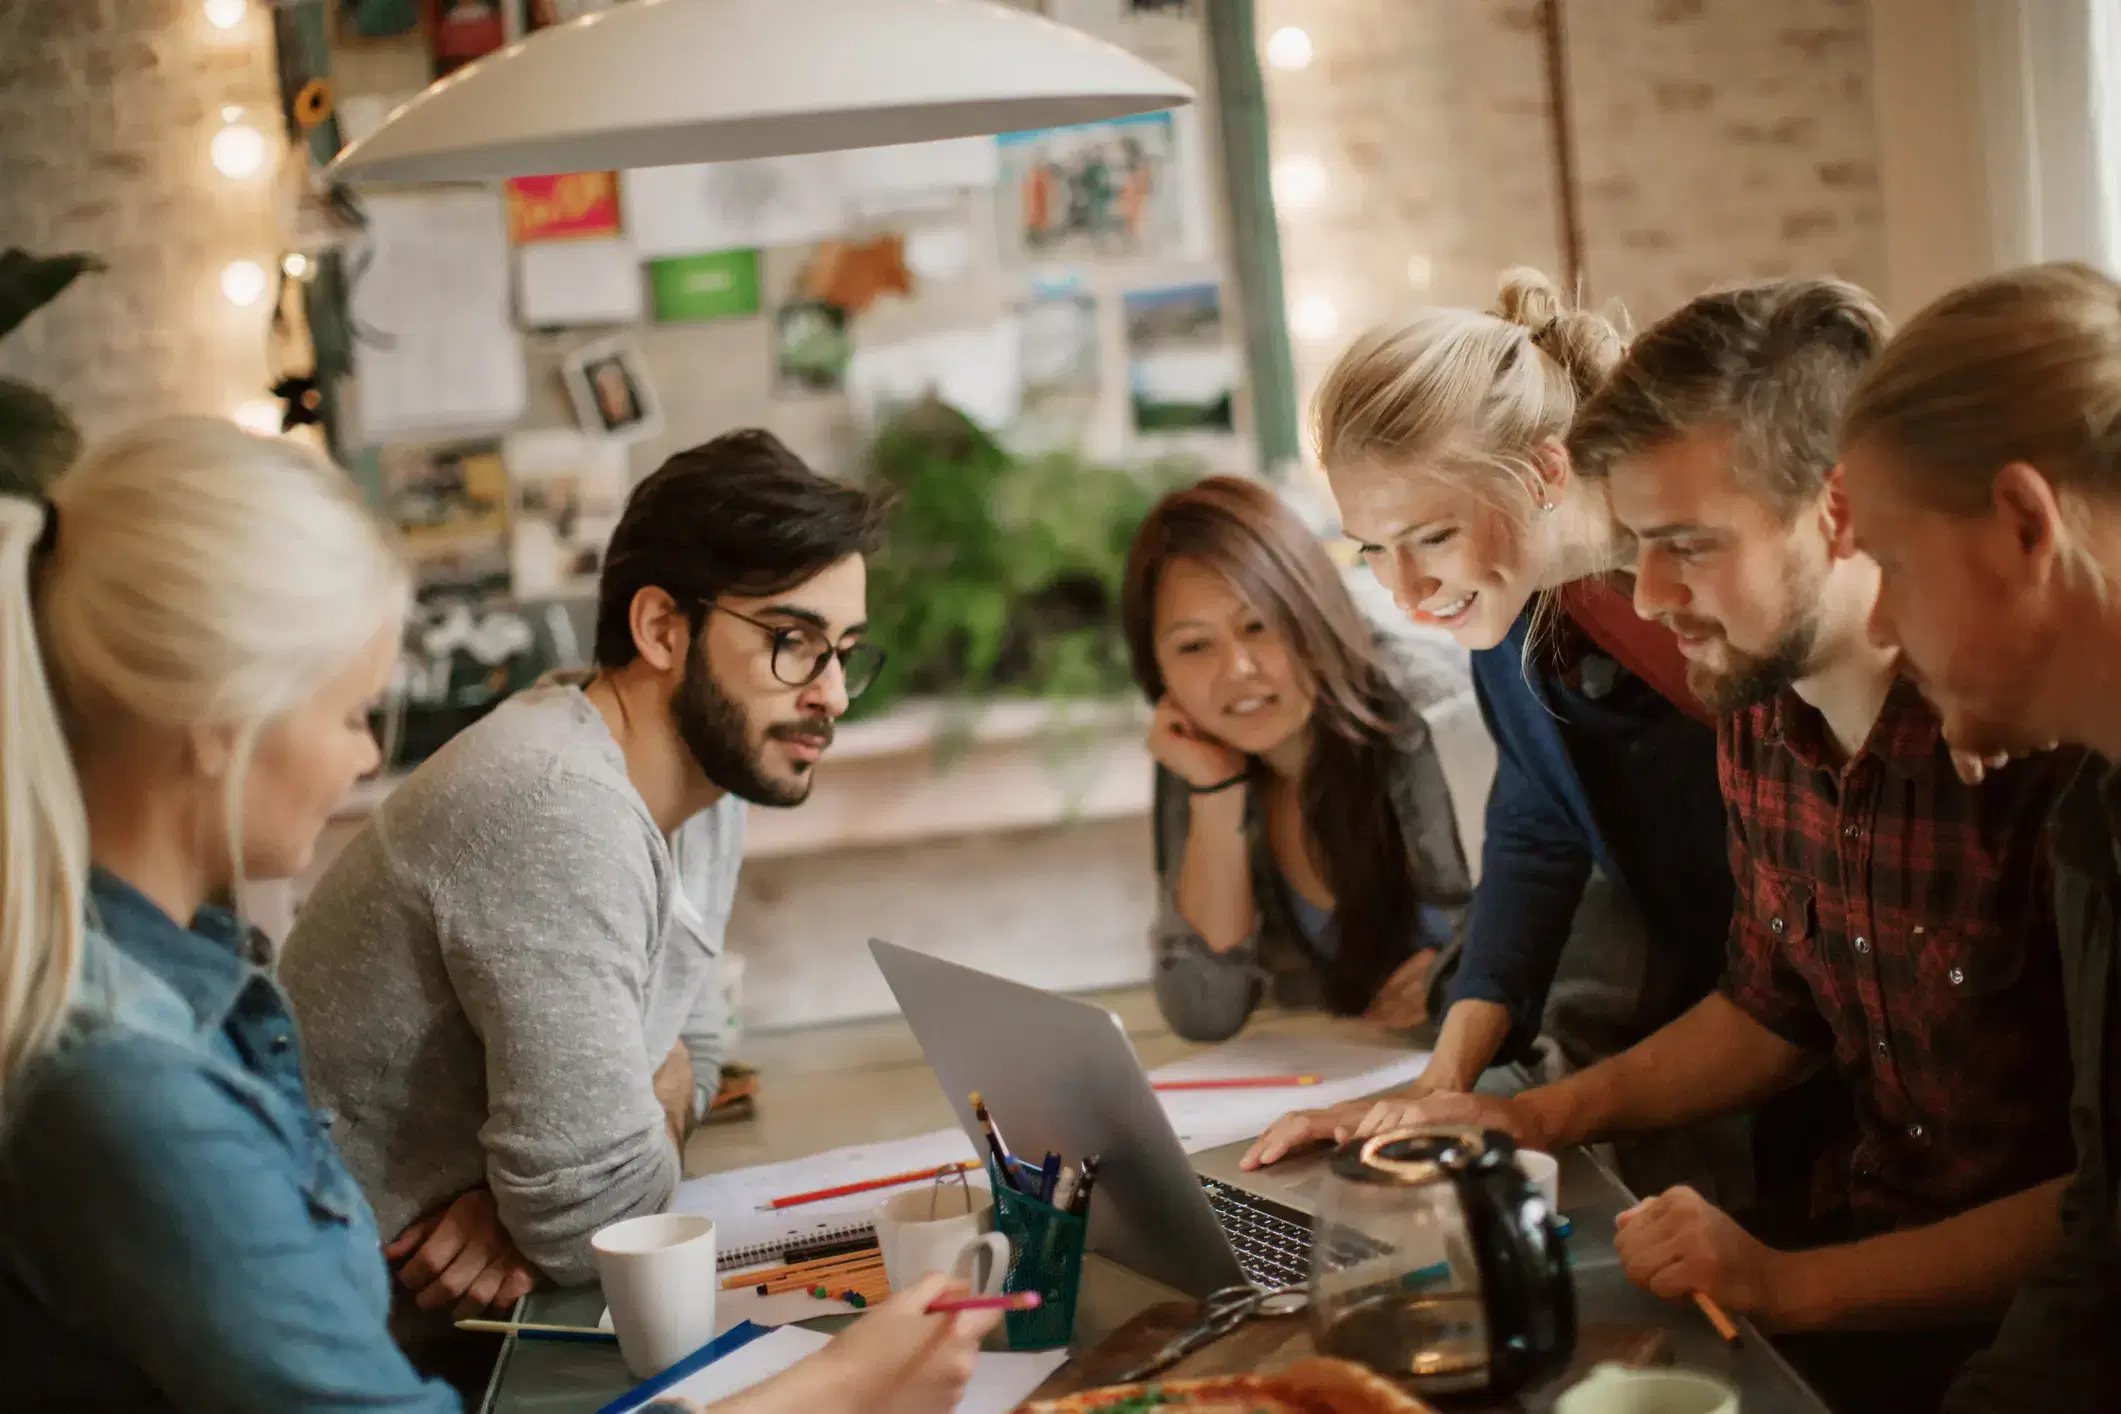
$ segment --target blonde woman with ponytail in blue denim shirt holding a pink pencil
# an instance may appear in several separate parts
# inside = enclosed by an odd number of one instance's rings
[[[0,1363],[11,1408],[456,1410],[384,1325],[263,939],[378,763],[407,577],[282,439],[163,422],[0,498]],[[940,1287],[940,1285],[937,1285]],[[942,1414],[923,1287],[723,1414]]]

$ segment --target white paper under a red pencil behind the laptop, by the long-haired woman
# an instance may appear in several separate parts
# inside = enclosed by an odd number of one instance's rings
[[[1317,1075],[1317,1085],[1281,1090],[1173,1090],[1158,1098],[1186,1153],[1200,1153],[1251,1138],[1292,1109],[1324,1109],[1391,1090],[1430,1066],[1427,1051],[1362,1041],[1296,1041],[1239,1037],[1160,1071],[1152,1081],[1247,1079],[1258,1075]]]

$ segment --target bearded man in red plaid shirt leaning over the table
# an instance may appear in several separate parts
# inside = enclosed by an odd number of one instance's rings
[[[1856,1124],[1807,1210],[1739,1221],[1682,1187],[1623,1215],[1616,1247],[1650,1291],[1777,1331],[1835,1408],[1913,1414],[2057,1242],[2070,1058],[2045,823],[2076,757],[1956,763],[1871,642],[1877,566],[1850,543],[1835,441],[1883,337],[1850,284],[1722,290],[1644,333],[1578,413],[1576,471],[1606,477],[1640,543],[1635,608],[1676,630],[1722,717],[1726,973],[1603,1064],[1413,1111],[1557,1147],[1752,1109],[1833,1066]]]

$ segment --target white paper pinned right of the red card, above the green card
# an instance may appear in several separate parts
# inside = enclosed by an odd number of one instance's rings
[[[840,153],[638,167],[621,174],[641,259],[797,246],[848,227]]]

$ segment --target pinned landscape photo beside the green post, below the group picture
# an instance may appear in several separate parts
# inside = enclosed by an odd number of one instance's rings
[[[1126,295],[1126,390],[1137,432],[1228,432],[1243,377],[1222,326],[1222,288]]]

